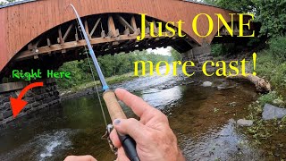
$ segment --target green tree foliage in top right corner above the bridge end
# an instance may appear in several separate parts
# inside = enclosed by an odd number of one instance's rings
[[[286,31],[285,0],[205,0],[206,3],[234,10],[240,13],[254,13],[261,22],[260,34],[267,37],[283,36]]]

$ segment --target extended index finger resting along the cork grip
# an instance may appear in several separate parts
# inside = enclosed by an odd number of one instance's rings
[[[155,108],[149,106],[142,98],[137,97],[125,89],[116,89],[116,97],[118,97],[126,106],[130,106],[134,114],[141,117],[144,113],[155,111]],[[152,114],[150,112],[150,114]],[[153,113],[154,114],[154,113]]]

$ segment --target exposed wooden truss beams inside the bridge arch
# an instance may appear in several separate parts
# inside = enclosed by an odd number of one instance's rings
[[[82,20],[97,55],[168,46],[174,47],[179,52],[185,52],[198,46],[191,38],[179,38],[177,35],[172,38],[151,38],[149,26],[146,29],[146,38],[138,41],[136,38],[141,31],[139,15],[107,13],[88,16]],[[147,24],[149,21],[157,22],[158,20],[147,18]],[[155,33],[157,34],[157,29]],[[21,50],[15,60],[19,62],[57,54],[78,55],[82,53],[86,45],[78,22],[69,21],[32,40],[27,47]]]

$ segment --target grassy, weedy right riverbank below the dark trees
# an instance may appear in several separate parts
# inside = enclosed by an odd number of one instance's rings
[[[265,158],[283,160],[286,158],[286,116],[280,119],[265,120],[263,113],[265,105],[273,105],[284,109],[286,107],[286,61],[283,58],[285,38],[277,38],[257,52],[257,76],[270,82],[272,91],[260,93],[256,101],[248,106],[244,118],[253,122],[249,127],[240,127],[239,131],[254,140],[253,146],[264,150]],[[252,53],[232,54],[231,59],[247,58],[252,60]],[[246,56],[246,57],[243,57]],[[228,60],[229,57],[219,56],[214,59]],[[248,64],[248,72],[253,71],[253,61]],[[272,159],[270,159],[272,160]]]

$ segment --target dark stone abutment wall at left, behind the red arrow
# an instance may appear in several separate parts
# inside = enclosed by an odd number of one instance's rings
[[[22,99],[27,101],[28,105],[25,106],[17,118],[60,103],[55,79],[40,81],[44,82],[44,87],[30,89],[25,94]],[[27,85],[29,85],[29,82],[27,81],[0,84],[0,125],[13,121],[10,97],[18,97],[21,89],[25,88]]]

